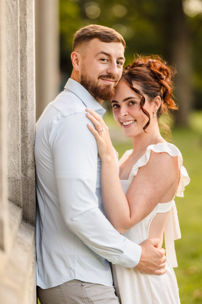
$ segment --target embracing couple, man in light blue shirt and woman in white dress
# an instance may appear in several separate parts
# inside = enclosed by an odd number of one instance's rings
[[[37,122],[41,304],[180,303],[174,196],[183,196],[189,177],[158,128],[160,115],[177,108],[174,72],[157,56],[138,57],[123,71],[124,48],[113,29],[79,29],[71,78]],[[119,163],[102,119],[104,100],[133,143]]]

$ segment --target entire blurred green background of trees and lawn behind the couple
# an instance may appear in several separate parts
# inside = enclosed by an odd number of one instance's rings
[[[176,198],[182,239],[175,242],[175,272],[181,304],[202,303],[202,1],[60,0],[59,5],[61,89],[71,75],[73,35],[88,24],[121,33],[127,45],[125,64],[134,54],[158,54],[177,68],[175,96],[180,108],[172,118],[170,141],[181,150],[191,182],[185,197]],[[131,143],[110,112],[105,121],[121,156]]]

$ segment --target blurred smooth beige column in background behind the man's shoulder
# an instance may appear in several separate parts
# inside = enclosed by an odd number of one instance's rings
[[[36,120],[59,91],[58,0],[35,0]]]

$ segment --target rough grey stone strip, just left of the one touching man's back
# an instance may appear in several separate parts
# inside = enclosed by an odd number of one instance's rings
[[[19,1],[5,1],[5,16],[8,199],[22,207]]]

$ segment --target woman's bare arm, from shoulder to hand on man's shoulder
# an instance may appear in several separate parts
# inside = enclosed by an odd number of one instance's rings
[[[165,152],[151,151],[147,165],[139,169],[124,195],[108,127],[99,114],[92,110],[87,111],[91,113],[87,116],[95,128],[104,128],[104,131],[98,132],[88,126],[97,140],[101,158],[101,188],[105,215],[116,230],[124,233],[144,219],[171,188],[175,189],[173,195],[171,194],[174,196],[179,180],[177,157],[171,157]]]

